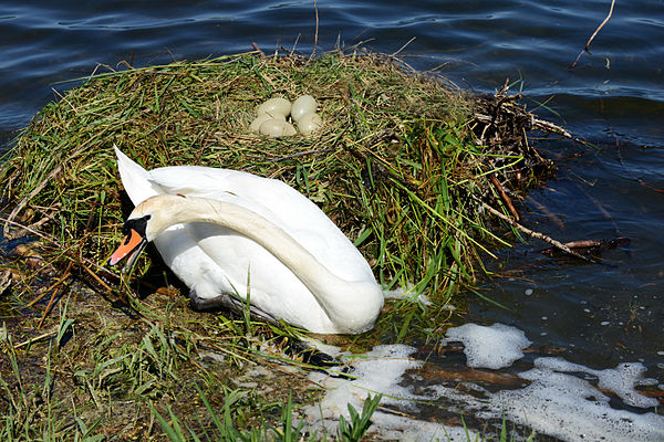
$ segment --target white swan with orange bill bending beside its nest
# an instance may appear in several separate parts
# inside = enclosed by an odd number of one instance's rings
[[[357,249],[282,181],[237,170],[176,166],[147,171],[117,148],[136,208],[108,263],[154,241],[199,307],[241,308],[314,333],[370,329],[383,292]],[[241,301],[240,301],[241,299]]]

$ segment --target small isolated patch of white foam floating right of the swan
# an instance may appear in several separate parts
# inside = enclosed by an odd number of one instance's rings
[[[453,340],[464,343],[466,364],[474,368],[509,367],[523,357],[523,348],[531,344],[523,332],[504,324],[490,327],[465,324],[448,328],[445,336],[443,344]]]

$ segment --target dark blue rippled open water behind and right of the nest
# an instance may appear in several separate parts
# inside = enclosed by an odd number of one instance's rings
[[[523,223],[561,241],[627,236],[610,266],[543,257],[529,241],[501,251],[505,277],[470,319],[526,332],[566,359],[614,368],[642,361],[664,382],[664,1],[618,2],[578,65],[610,1],[320,1],[318,51],[363,42],[480,92],[517,82],[538,114],[594,143],[538,144],[558,176],[523,201]],[[64,83],[112,69],[279,48],[311,53],[312,2],[6,1],[0,11],[0,141],[7,144]],[[411,41],[414,38],[413,41]],[[403,48],[407,42],[406,48]],[[582,155],[578,155],[582,154]],[[530,292],[531,291],[531,292]]]

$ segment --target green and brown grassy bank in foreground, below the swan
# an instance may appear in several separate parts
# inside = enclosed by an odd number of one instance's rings
[[[3,441],[360,441],[371,431],[380,394],[370,394],[362,410],[349,406],[350,418],[340,417],[336,430],[310,427],[297,403],[315,402],[320,392],[304,378],[311,368],[270,348],[260,324],[252,325],[257,337],[240,343],[236,336],[234,343],[229,334],[204,328],[227,322],[243,327],[242,319],[208,316],[191,329],[184,325],[194,315],[180,314],[181,303],[166,304],[178,314],[175,320],[143,324],[123,317],[104,323],[102,315],[94,318],[96,305],[83,313],[72,312],[70,303],[52,319],[56,334],[49,341],[18,350],[14,338],[24,328],[0,330]],[[208,350],[225,350],[226,358],[206,361],[201,354]],[[257,366],[273,373],[247,373]],[[468,432],[467,440],[532,440],[508,425],[504,421],[495,436]]]

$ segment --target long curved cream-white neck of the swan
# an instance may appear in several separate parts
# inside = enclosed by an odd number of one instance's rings
[[[256,241],[283,263],[309,288],[340,332],[357,333],[373,326],[383,304],[375,281],[349,282],[332,274],[283,229],[231,202],[204,198],[158,196],[139,204],[154,204],[148,240],[167,228],[187,222],[210,222]],[[153,238],[149,238],[149,236]]]

